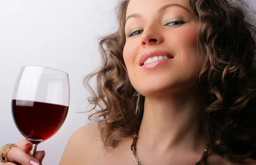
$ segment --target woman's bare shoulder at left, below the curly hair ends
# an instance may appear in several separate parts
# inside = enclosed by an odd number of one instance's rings
[[[102,150],[98,124],[87,124],[77,129],[67,142],[60,165],[74,165],[90,161]]]

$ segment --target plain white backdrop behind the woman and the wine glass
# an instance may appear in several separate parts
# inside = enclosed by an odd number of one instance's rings
[[[0,145],[23,139],[12,120],[12,90],[20,67],[70,74],[70,110],[63,127],[38,145],[44,165],[58,165],[70,135],[87,124],[83,76],[100,62],[97,38],[113,32],[118,0],[0,0]],[[256,6],[256,0],[251,0]],[[43,123],[42,123],[43,124]]]

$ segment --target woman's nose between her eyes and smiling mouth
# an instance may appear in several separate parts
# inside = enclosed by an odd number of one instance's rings
[[[141,35],[141,45],[149,46],[163,43],[162,30],[156,24],[150,24],[146,26]]]

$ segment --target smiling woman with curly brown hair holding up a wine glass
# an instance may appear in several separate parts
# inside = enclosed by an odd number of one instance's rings
[[[123,0],[60,165],[256,164],[256,26],[241,0]],[[21,140],[8,163],[39,165]],[[133,157],[134,156],[134,157]],[[135,161],[135,162],[134,162]],[[140,162],[139,162],[140,161]],[[17,163],[16,163],[17,164]]]

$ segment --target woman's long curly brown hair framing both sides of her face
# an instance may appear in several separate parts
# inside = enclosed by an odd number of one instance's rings
[[[118,5],[118,30],[101,38],[102,66],[84,79],[92,93],[90,120],[99,123],[104,147],[115,147],[140,129],[145,98],[132,87],[122,56],[129,0]],[[208,92],[205,137],[212,150],[230,161],[256,159],[256,25],[242,0],[190,0],[197,16],[203,64],[199,85]],[[96,77],[96,90],[90,80]]]

